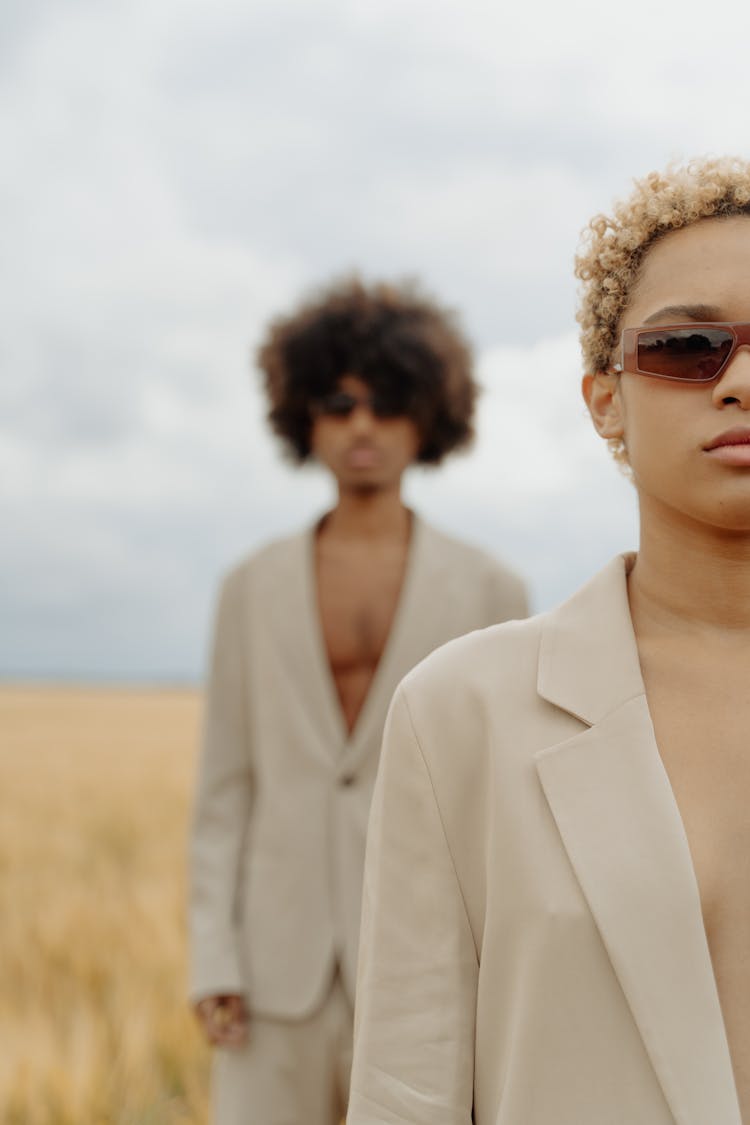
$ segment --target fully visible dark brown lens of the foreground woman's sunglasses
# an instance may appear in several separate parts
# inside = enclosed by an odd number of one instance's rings
[[[639,370],[663,379],[714,379],[734,340],[726,328],[654,328],[638,334]]]

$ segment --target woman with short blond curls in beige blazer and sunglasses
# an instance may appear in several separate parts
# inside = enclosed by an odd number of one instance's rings
[[[350,1125],[750,1125],[750,163],[577,261],[638,555],[394,700]]]

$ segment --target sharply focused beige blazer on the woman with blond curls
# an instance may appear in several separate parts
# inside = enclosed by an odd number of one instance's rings
[[[626,565],[396,694],[349,1125],[740,1125]]]

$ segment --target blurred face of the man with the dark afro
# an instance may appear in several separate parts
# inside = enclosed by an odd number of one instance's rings
[[[347,415],[314,412],[313,453],[335,476],[342,490],[378,492],[397,488],[404,470],[419,450],[416,424],[405,415],[378,417],[371,408],[370,387],[346,375],[337,392],[356,405]]]

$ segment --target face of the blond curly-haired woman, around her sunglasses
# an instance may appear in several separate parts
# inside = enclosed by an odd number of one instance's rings
[[[648,252],[621,327],[750,322],[750,217],[703,219]],[[642,515],[750,530],[750,348],[714,382],[624,371],[586,376],[584,396],[605,438],[624,440]],[[712,448],[728,431],[730,446]]]

